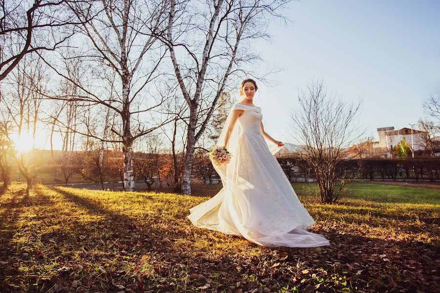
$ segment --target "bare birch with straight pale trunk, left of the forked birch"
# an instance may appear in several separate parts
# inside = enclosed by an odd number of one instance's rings
[[[81,23],[78,29],[86,37],[86,44],[75,51],[76,55],[61,54],[61,59],[65,63],[80,60],[82,69],[77,74],[68,66],[63,71],[51,64],[80,91],[75,97],[55,95],[50,98],[81,101],[89,109],[98,104],[110,108],[109,117],[114,116],[116,121],[110,128],[103,127],[102,132],[109,130],[116,137],[94,138],[122,144],[124,189],[128,191],[134,189],[133,142],[168,122],[153,115],[164,102],[154,99],[155,86],[159,84],[154,82],[161,76],[159,68],[166,54],[166,47],[156,42],[166,19],[165,5],[165,1],[159,0],[68,3],[77,22]],[[90,15],[96,17],[87,21]],[[47,62],[46,57],[44,60]],[[112,80],[114,75],[116,79]],[[110,88],[112,93],[108,92]],[[87,130],[76,131],[91,135]]]

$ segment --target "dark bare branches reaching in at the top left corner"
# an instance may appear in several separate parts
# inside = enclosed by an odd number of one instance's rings
[[[75,33],[71,25],[78,22],[66,10],[66,5],[74,1],[87,3],[87,0],[0,0],[0,81],[26,54],[56,50]],[[87,21],[90,18],[88,15]]]

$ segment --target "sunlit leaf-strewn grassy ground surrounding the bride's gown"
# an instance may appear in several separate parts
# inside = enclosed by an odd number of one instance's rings
[[[194,196],[0,190],[0,292],[438,292],[440,192],[352,184],[340,205],[295,190],[331,246],[264,248],[193,227]],[[312,186],[313,188],[313,186]]]

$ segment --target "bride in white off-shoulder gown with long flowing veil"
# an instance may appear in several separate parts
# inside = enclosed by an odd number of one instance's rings
[[[252,79],[242,82],[242,101],[232,107],[220,133],[218,145],[233,155],[229,164],[214,165],[223,188],[190,209],[188,218],[199,228],[241,235],[266,247],[330,245],[307,230],[315,222],[273,156],[284,144],[264,131],[261,108],[253,104],[257,89]]]

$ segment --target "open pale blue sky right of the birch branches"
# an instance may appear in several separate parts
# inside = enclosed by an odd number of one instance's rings
[[[271,42],[256,42],[265,63],[284,71],[261,86],[264,126],[275,139],[295,143],[289,110],[298,89],[322,79],[347,101],[363,100],[360,124],[377,138],[377,127],[409,127],[423,116],[422,101],[440,93],[440,1],[293,1],[274,22]]]

